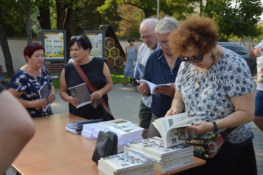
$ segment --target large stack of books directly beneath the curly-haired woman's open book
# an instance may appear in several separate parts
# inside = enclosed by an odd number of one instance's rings
[[[194,164],[193,146],[186,143],[165,148],[161,138],[153,137],[127,144],[124,151],[141,150],[157,162],[154,168],[162,173]]]

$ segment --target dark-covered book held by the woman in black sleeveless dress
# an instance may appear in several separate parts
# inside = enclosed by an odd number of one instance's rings
[[[68,89],[72,97],[77,97],[80,100],[76,108],[91,103],[90,92],[88,91],[87,85],[85,83]]]

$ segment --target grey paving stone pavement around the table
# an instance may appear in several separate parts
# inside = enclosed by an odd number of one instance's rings
[[[256,82],[256,77],[253,77]],[[136,86],[138,87],[138,86]],[[139,123],[138,113],[141,95],[137,92],[136,87],[131,84],[122,86],[114,84],[111,92],[108,93],[111,112],[115,119],[126,119],[135,123]],[[255,88],[255,94],[257,89]],[[60,98],[59,90],[56,90],[56,100],[51,105],[54,114],[69,113],[68,103]],[[253,145],[257,160],[258,175],[263,175],[263,134],[258,127],[252,123],[254,139]],[[6,171],[6,175],[14,175],[15,170],[11,167]]]

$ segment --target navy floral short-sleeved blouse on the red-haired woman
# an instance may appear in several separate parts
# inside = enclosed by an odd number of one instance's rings
[[[17,92],[23,92],[20,96],[23,100],[35,101],[39,99],[39,89],[44,85],[44,82],[48,83],[48,88],[51,90],[52,80],[50,78],[49,72],[46,66],[41,67],[41,79],[40,76],[36,77],[40,84],[30,75],[28,75],[23,70],[17,70],[12,77],[9,88],[14,88]],[[40,86],[41,85],[41,86]],[[26,108],[30,113],[31,117],[40,117],[48,115],[48,110],[46,112],[43,111],[43,108]]]

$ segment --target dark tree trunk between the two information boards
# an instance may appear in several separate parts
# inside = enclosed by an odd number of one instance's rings
[[[73,24],[74,24],[75,10],[72,7],[66,9],[66,17],[64,20],[64,30],[66,30],[66,42],[67,42],[67,62],[70,59],[69,42],[71,36],[73,36]]]

